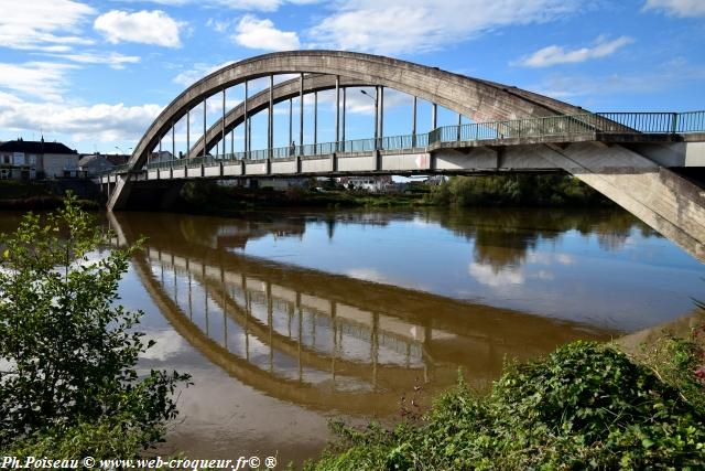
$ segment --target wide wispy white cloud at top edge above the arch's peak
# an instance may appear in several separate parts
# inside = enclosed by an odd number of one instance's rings
[[[457,44],[510,24],[551,21],[577,11],[577,0],[347,0],[310,34],[317,47],[419,53]]]

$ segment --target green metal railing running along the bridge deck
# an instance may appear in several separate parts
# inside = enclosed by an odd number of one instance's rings
[[[474,122],[462,126],[442,126],[427,133],[388,136],[356,139],[340,142],[288,146],[202,156],[148,163],[145,169],[183,167],[210,167],[221,162],[264,161],[295,157],[326,156],[336,153],[372,152],[376,150],[419,150],[441,142],[473,142],[508,138],[556,137],[590,133],[687,133],[705,132],[705,111],[688,113],[585,113],[579,115],[549,116]],[[128,165],[117,165],[105,173],[122,173]]]

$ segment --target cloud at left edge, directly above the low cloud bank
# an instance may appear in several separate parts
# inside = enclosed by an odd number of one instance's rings
[[[0,88],[61,100],[65,74],[70,68],[76,66],[52,62],[0,63]]]

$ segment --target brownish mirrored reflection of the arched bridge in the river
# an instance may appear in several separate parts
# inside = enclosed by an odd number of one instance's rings
[[[121,243],[133,234],[150,237],[133,266],[192,346],[242,383],[310,408],[389,414],[415,384],[453,384],[459,366],[484,387],[506,356],[608,336],[577,323],[235,255],[224,246],[245,231],[236,224],[212,228],[215,239],[197,245],[187,224],[169,232],[153,215],[144,226],[140,215],[117,217],[110,215]],[[300,233],[285,225],[269,229]]]

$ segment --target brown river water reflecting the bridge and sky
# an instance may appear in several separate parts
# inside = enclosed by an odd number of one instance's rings
[[[0,231],[17,218],[4,213]],[[191,373],[160,453],[315,457],[327,422],[427,407],[462,368],[669,322],[703,266],[621,210],[263,211],[106,216],[147,236],[122,280],[156,341],[141,366]],[[416,408],[411,403],[419,404]]]

